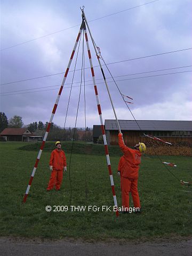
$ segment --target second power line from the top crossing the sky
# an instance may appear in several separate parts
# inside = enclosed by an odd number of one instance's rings
[[[169,54],[169,53],[187,51],[187,50],[191,50],[191,49],[192,49],[192,48],[187,48],[187,49],[180,49],[180,50],[171,51],[171,52],[156,53],[156,54],[153,54],[153,55],[147,55],[147,56],[132,58],[132,59],[128,59],[128,60],[121,60],[121,61],[116,61],[116,62],[110,62],[110,63],[107,63],[106,65],[112,65],[112,64],[121,63],[121,62],[126,62],[126,61],[132,61],[132,60],[150,58],[150,57],[155,57],[155,56],[158,56],[158,55],[164,55],[164,54]],[[104,66],[104,65],[101,65],[101,66]],[[96,67],[99,67],[99,66],[94,66],[94,68],[96,68]],[[89,67],[87,67],[87,68],[85,68],[85,69],[89,69]],[[78,71],[78,70],[81,70],[81,69],[76,69],[76,71]],[[69,71],[69,72],[73,72],[73,71],[74,71],[74,70],[71,70],[71,71]],[[3,84],[0,84],[0,85],[14,84],[14,83],[19,83],[19,82],[26,82],[26,81],[33,80],[33,79],[39,79],[39,78],[44,78],[44,77],[49,77],[49,76],[55,76],[55,75],[61,75],[61,74],[64,74],[64,72],[55,73],[55,74],[51,74],[51,75],[45,75],[45,76],[31,77],[31,78],[27,78],[27,79],[23,79],[23,80],[19,80],[19,81],[13,81],[13,82],[9,82],[9,83],[3,83]]]

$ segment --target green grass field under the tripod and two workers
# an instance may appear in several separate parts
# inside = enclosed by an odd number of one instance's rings
[[[24,148],[21,148],[25,145]],[[59,211],[54,205],[113,206],[106,157],[103,145],[75,143],[71,159],[70,193],[69,166],[63,177],[61,191],[47,193],[50,178],[49,158],[54,143],[46,142],[29,196],[22,203],[39,146],[24,142],[0,142],[1,150],[1,236],[84,239],[148,239],[154,237],[190,236],[192,233],[192,187],[183,187],[167,172],[156,156],[143,155],[139,173],[139,194],[142,214],[115,217],[106,211]],[[38,149],[37,149],[38,148]],[[65,145],[63,145],[65,149]],[[69,161],[70,142],[66,144]],[[77,154],[81,153],[81,154]],[[86,154],[87,153],[87,154]],[[110,161],[118,205],[121,206],[120,180],[117,165],[121,155],[118,147],[110,147]],[[179,179],[191,180],[191,158],[161,156],[162,161],[174,162],[170,169]],[[86,168],[85,168],[86,167]],[[86,174],[85,174],[86,173]],[[85,195],[87,184],[87,196]],[[186,192],[184,190],[189,190]],[[45,206],[52,207],[46,212]],[[131,202],[131,205],[132,202]]]

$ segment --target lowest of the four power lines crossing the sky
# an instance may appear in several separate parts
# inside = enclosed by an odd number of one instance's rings
[[[127,80],[133,80],[133,79],[142,79],[142,78],[148,78],[148,77],[155,77],[155,76],[165,76],[165,75],[173,75],[173,74],[179,74],[179,73],[187,73],[187,72],[192,72],[192,70],[187,70],[187,71],[180,71],[180,72],[174,72],[174,73],[167,73],[167,74],[159,74],[159,75],[152,75],[152,76],[142,76],[142,77],[133,77],[133,78],[127,78],[127,79],[121,79],[121,80],[116,80],[115,82],[121,82],[121,81],[127,81]],[[108,83],[113,83],[114,81],[109,81]],[[78,82],[79,83],[79,82]],[[104,82],[97,83],[97,84],[103,84]],[[86,84],[87,85],[93,85],[93,84]],[[54,86],[60,86],[60,85],[54,85]],[[51,86],[47,86],[51,87]],[[79,87],[79,85],[75,85],[73,87]],[[70,86],[65,87],[65,88],[70,88]],[[33,89],[28,89],[28,90],[33,90]],[[41,90],[41,91],[32,91],[32,92],[44,92],[44,91],[52,91],[52,90],[57,90],[55,89],[46,89],[46,90]],[[10,96],[10,95],[17,95],[17,94],[25,94],[25,93],[31,93],[31,92],[21,92],[21,93],[13,93],[13,94],[4,94],[0,96]]]

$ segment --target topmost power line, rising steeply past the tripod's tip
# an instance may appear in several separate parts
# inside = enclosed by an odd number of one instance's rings
[[[96,18],[96,19],[90,20],[89,22],[92,22],[92,21],[95,21],[95,20],[100,20],[100,19],[103,19],[103,18],[106,18],[106,17],[110,17],[110,16],[112,16],[112,15],[115,15],[115,14],[118,14],[118,13],[122,13],[122,12],[125,12],[125,11],[129,11],[129,10],[135,9],[135,8],[137,8],[137,7],[141,7],[141,6],[143,6],[143,5],[151,4],[151,3],[154,3],[154,2],[157,2],[157,1],[159,1],[159,0],[151,1],[151,2],[148,2],[148,3],[145,3],[145,4],[140,4],[140,5],[137,5],[137,6],[128,8],[128,9],[125,9],[125,10],[123,10],[123,11],[111,13],[111,14],[102,16],[102,17],[100,17],[100,18]],[[15,45],[12,45],[12,46],[9,46],[9,47],[5,47],[5,48],[1,49],[1,51],[8,50],[8,49],[11,49],[11,48],[13,48],[13,47],[16,47],[16,46],[19,46],[19,45],[22,45],[22,44],[27,44],[27,43],[29,43],[29,42],[33,42],[33,41],[35,41],[35,40],[37,40],[37,39],[40,39],[40,38],[43,38],[43,37],[46,37],[46,36],[50,36],[50,35],[54,35],[54,34],[57,34],[57,33],[61,33],[62,31],[65,31],[65,30],[68,30],[68,29],[71,29],[71,28],[75,28],[75,27],[78,27],[78,26],[80,26],[80,25],[81,25],[81,24],[78,24],[78,25],[75,25],[75,26],[72,26],[72,27],[69,27],[69,28],[65,28],[65,29],[61,29],[61,30],[59,30],[59,31],[55,31],[55,32],[50,33],[50,34],[46,34],[46,35],[44,35],[44,36],[36,37],[36,38],[34,38],[34,39],[31,39],[31,40],[22,42],[22,43],[20,43],[20,44],[15,44]]]

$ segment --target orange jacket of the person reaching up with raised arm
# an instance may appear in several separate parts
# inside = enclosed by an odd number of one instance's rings
[[[118,135],[118,144],[124,153],[119,161],[119,166],[121,170],[121,177],[128,179],[138,178],[139,164],[141,163],[141,153],[137,149],[131,149],[125,146],[123,142],[122,135]]]

